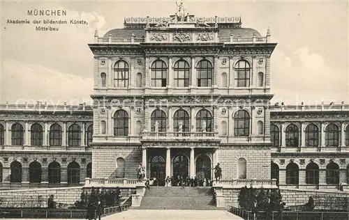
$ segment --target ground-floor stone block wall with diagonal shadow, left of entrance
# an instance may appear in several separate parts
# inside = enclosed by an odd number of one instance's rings
[[[92,178],[137,179],[136,168],[142,162],[138,146],[95,146],[92,151]],[[120,176],[123,175],[124,177]]]

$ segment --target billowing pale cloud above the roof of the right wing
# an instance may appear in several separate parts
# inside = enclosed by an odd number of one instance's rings
[[[308,47],[299,47],[290,56],[277,50],[272,56],[272,102],[319,104],[348,100],[346,72],[335,72]]]

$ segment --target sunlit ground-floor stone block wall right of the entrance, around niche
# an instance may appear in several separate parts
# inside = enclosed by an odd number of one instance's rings
[[[246,159],[246,178],[247,179],[269,179],[271,155],[269,150],[256,149],[243,150],[227,149],[225,147],[219,150],[218,162],[222,168],[222,179],[232,180],[238,178],[237,162],[239,158]]]

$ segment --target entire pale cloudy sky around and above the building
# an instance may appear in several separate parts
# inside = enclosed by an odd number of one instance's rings
[[[242,17],[242,27],[272,41],[272,103],[349,104],[348,1],[190,1],[198,17]],[[27,10],[66,10],[66,17],[27,16]],[[1,1],[0,103],[91,102],[94,55],[88,43],[122,28],[124,17],[168,17],[172,1]],[[88,25],[7,24],[8,19],[84,19]]]

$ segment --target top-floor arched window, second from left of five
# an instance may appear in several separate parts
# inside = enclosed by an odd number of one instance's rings
[[[168,68],[166,63],[161,60],[154,61],[151,64],[151,86],[166,87],[168,83]]]

